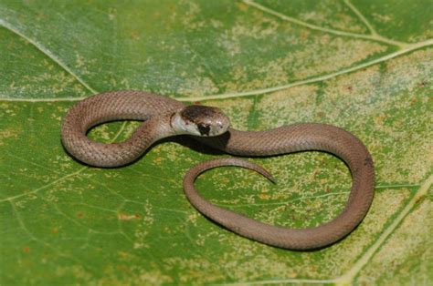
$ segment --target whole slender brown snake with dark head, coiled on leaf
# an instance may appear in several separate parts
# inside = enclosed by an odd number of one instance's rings
[[[117,120],[141,120],[130,138],[101,143],[88,137],[90,128]],[[116,168],[140,158],[162,138],[189,135],[232,158],[199,163],[184,177],[185,196],[208,219],[250,240],[287,250],[317,250],[343,240],[364,220],[374,198],[373,158],[352,133],[322,123],[295,123],[264,131],[231,128],[217,107],[186,105],[170,97],[137,90],[120,90],[87,97],[70,107],[63,118],[61,142],[72,157],[90,166]],[[243,157],[261,158],[301,151],[322,151],[341,158],[350,170],[352,187],[343,211],[321,225],[290,229],[253,220],[206,200],[195,179],[208,169],[237,166],[274,181],[266,169]]]

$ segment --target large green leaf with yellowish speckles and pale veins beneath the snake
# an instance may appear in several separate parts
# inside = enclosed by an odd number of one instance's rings
[[[431,1],[0,2],[1,284],[433,283]],[[317,251],[272,248],[206,220],[187,169],[227,156],[187,138],[121,169],[62,148],[77,100],[140,89],[222,107],[235,128],[322,122],[375,159],[372,209]],[[136,122],[95,128],[104,142]],[[217,205],[287,227],[331,220],[350,175],[319,152],[214,169]]]

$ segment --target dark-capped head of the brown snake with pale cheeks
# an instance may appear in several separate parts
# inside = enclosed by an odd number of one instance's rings
[[[230,120],[219,108],[193,105],[176,111],[171,126],[177,134],[210,137],[225,133]]]

